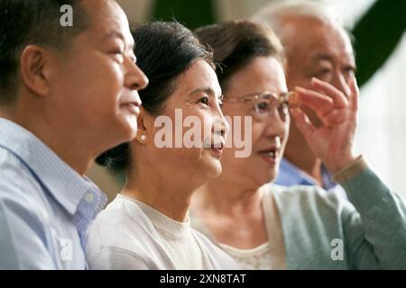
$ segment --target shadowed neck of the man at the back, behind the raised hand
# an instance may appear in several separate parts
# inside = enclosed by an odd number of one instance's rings
[[[297,166],[300,170],[313,177],[318,181],[318,184],[322,185],[322,162],[314,155],[308,142],[304,139],[300,130],[296,128],[293,122],[291,123],[291,131],[284,157],[288,159],[291,164]]]

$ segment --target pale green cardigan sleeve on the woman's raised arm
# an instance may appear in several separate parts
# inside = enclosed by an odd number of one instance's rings
[[[406,269],[406,207],[362,157],[335,175],[356,211],[343,225],[353,269]]]

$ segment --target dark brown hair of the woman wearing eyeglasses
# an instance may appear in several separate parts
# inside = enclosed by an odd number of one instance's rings
[[[281,41],[266,26],[235,20],[198,28],[195,34],[213,49],[218,63],[216,73],[223,91],[227,80],[255,57],[272,56],[286,67]]]

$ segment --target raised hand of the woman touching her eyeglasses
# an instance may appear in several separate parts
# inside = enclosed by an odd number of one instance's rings
[[[331,173],[355,161],[353,140],[358,110],[358,86],[355,77],[349,82],[347,97],[335,86],[313,78],[314,90],[296,87],[299,103],[315,111],[322,125],[315,127],[300,108],[291,109],[297,127],[313,152]]]

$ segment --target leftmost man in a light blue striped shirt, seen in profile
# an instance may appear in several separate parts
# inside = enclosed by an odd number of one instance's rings
[[[0,269],[85,269],[106,195],[84,176],[134,138],[147,78],[115,1],[0,1]]]

